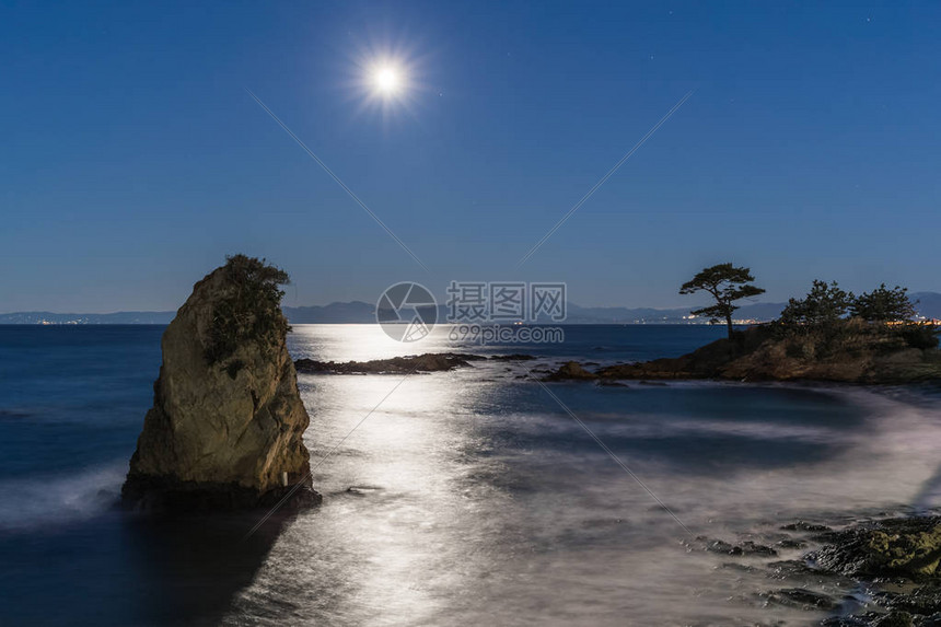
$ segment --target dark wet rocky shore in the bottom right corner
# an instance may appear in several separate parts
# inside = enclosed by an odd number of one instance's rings
[[[941,516],[888,518],[840,531],[798,521],[780,531],[787,533],[768,545],[700,536],[687,547],[741,559],[776,558],[766,565],[768,577],[787,587],[758,593],[760,603],[825,611],[829,616],[821,625],[941,626]],[[809,544],[820,547],[800,559],[777,559]]]

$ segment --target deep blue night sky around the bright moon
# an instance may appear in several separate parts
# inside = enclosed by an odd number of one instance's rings
[[[175,309],[231,252],[292,305],[527,279],[667,306],[724,260],[765,300],[941,291],[941,4],[826,4],[4,2],[0,311]],[[380,106],[385,55],[411,85]]]

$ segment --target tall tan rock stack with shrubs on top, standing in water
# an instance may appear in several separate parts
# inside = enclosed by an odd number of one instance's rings
[[[126,502],[211,510],[270,507],[289,494],[294,504],[318,499],[280,310],[287,280],[236,255],[196,283],[163,334]]]

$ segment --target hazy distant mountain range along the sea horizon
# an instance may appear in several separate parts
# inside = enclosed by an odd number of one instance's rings
[[[941,293],[917,292],[919,314],[941,318]],[[689,320],[690,307],[583,307],[568,303],[567,324],[704,324],[704,318]],[[736,320],[767,322],[781,313],[785,303],[752,303],[735,312]],[[448,310],[440,305],[439,320]],[[323,306],[283,307],[292,324],[371,324],[375,323],[375,305],[362,301],[330,303]],[[74,314],[53,312],[18,312],[0,314],[0,324],[169,324],[176,312],[115,312],[107,314]]]

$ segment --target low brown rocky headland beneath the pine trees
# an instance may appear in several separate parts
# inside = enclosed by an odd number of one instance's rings
[[[830,336],[781,336],[762,326],[720,339],[688,355],[601,368],[594,372],[566,364],[551,381],[565,379],[733,381],[833,381],[911,383],[941,380],[941,351],[925,346],[927,329],[875,327],[847,322]],[[576,364],[578,365],[578,364]],[[592,376],[588,376],[592,375]]]

